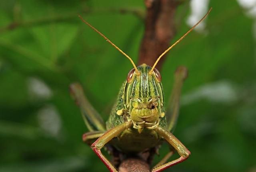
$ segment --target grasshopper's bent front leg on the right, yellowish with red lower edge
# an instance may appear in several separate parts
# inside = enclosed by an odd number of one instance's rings
[[[174,166],[188,158],[190,155],[190,151],[168,130],[158,126],[154,129],[160,136],[164,137],[164,139],[172,146],[174,149],[180,154],[180,158],[176,160],[172,160],[171,162],[167,162],[163,165],[160,165],[154,169],[152,172],[161,172],[162,170]]]

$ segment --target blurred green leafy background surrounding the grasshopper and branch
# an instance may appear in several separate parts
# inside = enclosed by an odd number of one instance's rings
[[[175,40],[209,7],[161,70],[166,101],[174,70],[189,70],[174,135],[192,155],[166,171],[255,172],[256,1],[184,1]],[[1,172],[108,171],[82,143],[88,129],[68,86],[82,83],[106,120],[132,65],[77,14],[137,61],[143,0],[0,0]]]

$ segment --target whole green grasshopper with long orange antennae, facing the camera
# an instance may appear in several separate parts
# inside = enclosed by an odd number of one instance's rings
[[[90,130],[83,135],[83,141],[92,143],[92,150],[110,172],[117,172],[117,170],[101,152],[101,149],[107,145],[123,154],[137,154],[148,149],[158,149],[158,146],[166,141],[170,146],[170,152],[152,168],[152,172],[160,172],[174,166],[190,155],[190,151],[171,133],[178,118],[180,92],[187,70],[183,66],[176,70],[170,103],[165,111],[161,75],[155,67],[161,57],[202,22],[211,10],[212,8],[187,33],[164,51],[152,67],[146,64],[137,67],[128,55],[79,16],[84,23],[126,56],[134,66],[121,86],[116,104],[106,124],[84,96],[82,86],[78,83],[70,85],[71,95],[80,107],[84,122]],[[173,154],[173,149],[178,152],[180,158],[166,162]]]

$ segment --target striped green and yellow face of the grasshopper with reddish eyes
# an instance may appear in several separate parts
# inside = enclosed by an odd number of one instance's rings
[[[160,72],[143,64],[138,72],[133,68],[127,76],[125,105],[129,109],[134,128],[142,131],[144,127],[154,129],[159,123],[163,106],[163,91]]]

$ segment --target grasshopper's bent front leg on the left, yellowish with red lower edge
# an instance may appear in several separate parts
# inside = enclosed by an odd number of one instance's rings
[[[98,138],[92,145],[92,150],[97,154],[97,156],[102,160],[110,172],[117,172],[116,168],[111,164],[111,162],[101,153],[100,149],[106,145],[114,137],[118,136],[122,131],[132,127],[132,121],[122,123],[104,133],[100,138]]]

